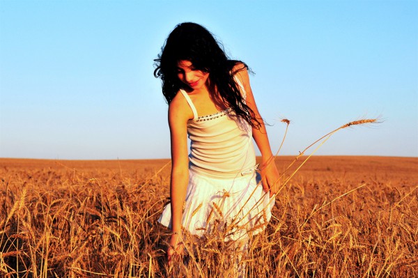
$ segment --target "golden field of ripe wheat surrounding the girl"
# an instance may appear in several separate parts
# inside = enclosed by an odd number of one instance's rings
[[[279,171],[293,160],[277,157]],[[168,268],[156,220],[169,171],[0,159],[0,277],[229,277],[230,249],[210,237]],[[417,157],[312,157],[252,238],[247,277],[418,277],[417,187]]]

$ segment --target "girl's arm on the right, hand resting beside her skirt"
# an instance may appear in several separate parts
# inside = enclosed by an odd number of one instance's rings
[[[237,68],[238,67],[238,68]],[[254,100],[254,95],[251,91],[251,86],[249,84],[249,75],[247,69],[241,64],[235,66],[236,75],[242,82],[242,86],[245,88],[247,93],[247,98],[245,102],[254,111],[258,122],[260,123],[259,128],[253,128],[252,134],[254,141],[256,141],[257,147],[261,153],[261,180],[263,182],[263,188],[265,192],[270,191],[270,197],[277,193],[279,187],[279,171],[277,170],[276,164],[274,163],[274,156],[270,148],[270,142],[268,140],[267,131],[265,130],[265,125],[263,118],[261,118],[260,113],[258,112],[256,100]]]

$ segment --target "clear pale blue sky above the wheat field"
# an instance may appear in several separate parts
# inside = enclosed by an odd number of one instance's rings
[[[180,22],[255,72],[273,151],[418,156],[418,1],[0,1],[0,157],[170,157],[157,57]]]

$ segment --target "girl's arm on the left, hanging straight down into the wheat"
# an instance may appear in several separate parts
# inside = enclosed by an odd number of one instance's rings
[[[189,182],[189,157],[187,153],[187,121],[190,118],[187,102],[183,95],[177,95],[169,105],[169,128],[171,139],[171,229],[167,256],[169,262],[176,252],[182,252],[183,203]],[[187,105],[188,106],[188,105]],[[180,246],[179,246],[180,245]]]

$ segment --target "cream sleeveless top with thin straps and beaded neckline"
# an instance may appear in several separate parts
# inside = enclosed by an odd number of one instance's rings
[[[246,98],[244,87],[235,78]],[[213,178],[235,178],[254,171],[256,155],[252,128],[243,118],[228,108],[218,113],[198,116],[189,95],[180,90],[193,111],[187,123],[190,139],[189,169]]]

